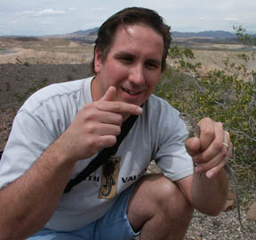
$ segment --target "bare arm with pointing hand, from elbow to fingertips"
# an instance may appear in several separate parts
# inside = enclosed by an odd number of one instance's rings
[[[76,162],[113,146],[124,115],[141,114],[139,106],[114,102],[115,95],[116,89],[110,87],[99,101],[85,105],[35,164],[0,190],[1,240],[24,239],[43,228],[58,205]]]

